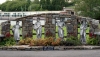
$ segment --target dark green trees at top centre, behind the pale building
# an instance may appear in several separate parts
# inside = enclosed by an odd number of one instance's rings
[[[40,5],[44,10],[62,10],[63,7],[72,6],[74,2],[68,3],[65,0],[41,0]]]

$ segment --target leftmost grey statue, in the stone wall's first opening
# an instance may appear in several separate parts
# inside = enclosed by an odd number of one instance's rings
[[[20,25],[19,25],[19,21],[17,21],[16,25],[13,26],[12,31],[13,31],[14,38],[15,38],[16,42],[18,42],[20,40]]]

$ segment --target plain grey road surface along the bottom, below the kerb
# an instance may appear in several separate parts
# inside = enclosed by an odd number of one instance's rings
[[[0,51],[0,57],[100,57],[100,50]]]

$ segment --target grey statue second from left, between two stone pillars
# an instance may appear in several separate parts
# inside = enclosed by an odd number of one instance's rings
[[[36,30],[37,38],[41,38],[42,26],[41,26],[40,18],[37,18],[37,22],[34,24],[34,30]]]

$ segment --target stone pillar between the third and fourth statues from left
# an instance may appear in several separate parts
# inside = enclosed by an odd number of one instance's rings
[[[67,36],[78,36],[78,24],[77,24],[77,17],[76,16],[71,16],[70,19],[68,19],[65,22],[65,26],[67,29]]]

